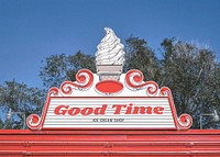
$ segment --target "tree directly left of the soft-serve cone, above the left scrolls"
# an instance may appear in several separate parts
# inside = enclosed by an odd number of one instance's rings
[[[77,71],[81,68],[96,70],[95,58],[80,51],[75,55],[52,55],[46,58],[45,66],[40,70],[40,77],[47,88],[59,87],[63,81],[75,81]]]

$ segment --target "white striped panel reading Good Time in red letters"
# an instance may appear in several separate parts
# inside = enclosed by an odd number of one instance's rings
[[[44,128],[175,128],[167,98],[52,98]]]

